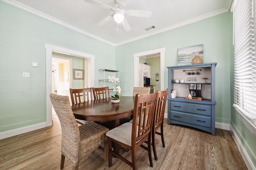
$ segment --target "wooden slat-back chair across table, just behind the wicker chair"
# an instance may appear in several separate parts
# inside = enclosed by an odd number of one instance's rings
[[[70,96],[72,105],[78,104],[84,101],[92,100],[92,88],[80,88],[80,89],[72,89],[70,88]],[[87,121],[76,119],[76,122],[79,124],[84,124]]]

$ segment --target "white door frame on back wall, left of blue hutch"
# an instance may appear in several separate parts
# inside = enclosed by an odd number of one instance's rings
[[[139,62],[140,57],[145,57],[147,55],[153,55],[160,53],[160,89],[161,91],[164,89],[164,52],[165,48],[154,49],[150,51],[144,51],[141,53],[136,53],[133,55],[134,57],[134,87],[139,87],[140,85],[140,74],[139,74]]]

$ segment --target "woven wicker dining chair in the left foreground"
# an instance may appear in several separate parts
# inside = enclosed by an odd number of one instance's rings
[[[92,121],[78,127],[68,96],[52,93],[50,100],[60,120],[62,131],[60,169],[64,167],[65,157],[67,157],[73,165],[73,170],[78,170],[79,162],[103,143],[104,159],[107,160],[106,132],[109,129]]]

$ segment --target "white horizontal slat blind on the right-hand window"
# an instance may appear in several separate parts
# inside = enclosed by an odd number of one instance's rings
[[[234,0],[234,104],[256,127],[256,2]],[[249,128],[248,128],[249,129]],[[250,129],[249,129],[250,130]],[[255,132],[254,132],[255,133]]]

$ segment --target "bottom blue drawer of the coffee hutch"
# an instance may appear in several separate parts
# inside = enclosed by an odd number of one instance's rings
[[[171,110],[170,119],[204,127],[211,127],[211,117],[203,115],[181,113]]]

